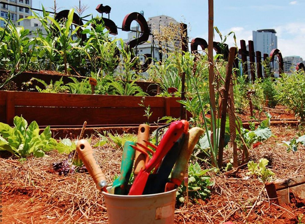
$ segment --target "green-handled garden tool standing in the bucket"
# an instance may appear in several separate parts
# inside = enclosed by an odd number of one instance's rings
[[[110,193],[116,195],[126,195],[126,186],[128,184],[132,165],[135,159],[135,150],[132,146],[135,146],[135,142],[126,141],[123,147],[121,174],[115,181],[113,181]]]

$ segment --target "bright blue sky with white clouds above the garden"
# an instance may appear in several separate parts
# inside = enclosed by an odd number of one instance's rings
[[[79,0],[56,0],[57,11],[71,9],[79,5]],[[144,17],[166,15],[188,25],[189,40],[200,37],[208,40],[208,0],[81,0],[88,9],[84,15],[100,15],[96,10],[99,4],[111,7],[110,19],[122,27],[124,17],[131,12],[144,11]],[[33,8],[53,11],[54,0],[33,0]],[[252,31],[275,29],[278,49],[282,56],[301,56],[305,60],[305,0],[214,0],[214,26],[224,35],[234,31],[237,46],[240,40],[252,40]],[[104,17],[108,18],[107,14]],[[133,25],[133,24],[132,24]],[[127,38],[127,32],[118,31],[117,38]],[[215,33],[215,41],[219,36]],[[234,46],[232,35],[226,43]]]

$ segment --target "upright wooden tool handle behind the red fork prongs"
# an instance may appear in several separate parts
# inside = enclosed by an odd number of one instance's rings
[[[148,141],[148,139],[149,139],[149,126],[147,124],[139,125],[137,142],[142,144],[142,145],[144,145],[144,146],[147,146],[145,141]],[[138,146],[138,147],[140,149],[145,150],[141,146]],[[134,174],[135,175],[138,175],[140,170],[144,169],[144,167],[145,167],[145,159],[146,159],[146,155],[144,155],[140,151],[135,151],[135,168],[134,168]]]

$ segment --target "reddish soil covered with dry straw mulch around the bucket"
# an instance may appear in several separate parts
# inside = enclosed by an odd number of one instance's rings
[[[288,119],[295,118],[283,108],[269,112],[284,123],[271,127],[274,137],[251,149],[250,160],[268,159],[268,168],[276,178],[304,174],[305,147],[300,146],[297,152],[288,153],[282,144],[298,134],[303,135],[304,129],[299,125],[286,125]],[[251,120],[249,113],[241,117],[244,121]],[[92,137],[91,145],[98,141],[98,137]],[[122,150],[111,142],[94,150],[107,181],[111,183],[120,172]],[[0,219],[3,223],[108,223],[104,198],[89,175],[76,173],[64,177],[52,170],[53,163],[66,157],[51,151],[45,157],[29,158],[23,163],[14,157],[0,158]],[[224,163],[231,158],[229,147],[224,153]],[[292,197],[289,204],[278,205],[268,198],[264,183],[247,172],[247,167],[243,166],[235,173],[209,173],[214,182],[210,198],[177,207],[175,223],[305,222],[304,200]]]

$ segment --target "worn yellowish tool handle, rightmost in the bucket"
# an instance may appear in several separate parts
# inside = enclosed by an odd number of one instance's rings
[[[171,175],[171,181],[178,186],[180,186],[181,182],[183,181],[184,173],[188,165],[188,160],[190,159],[195,145],[203,132],[204,131],[202,128],[194,127],[191,128],[186,135],[186,140],[184,141],[178,160]]]

